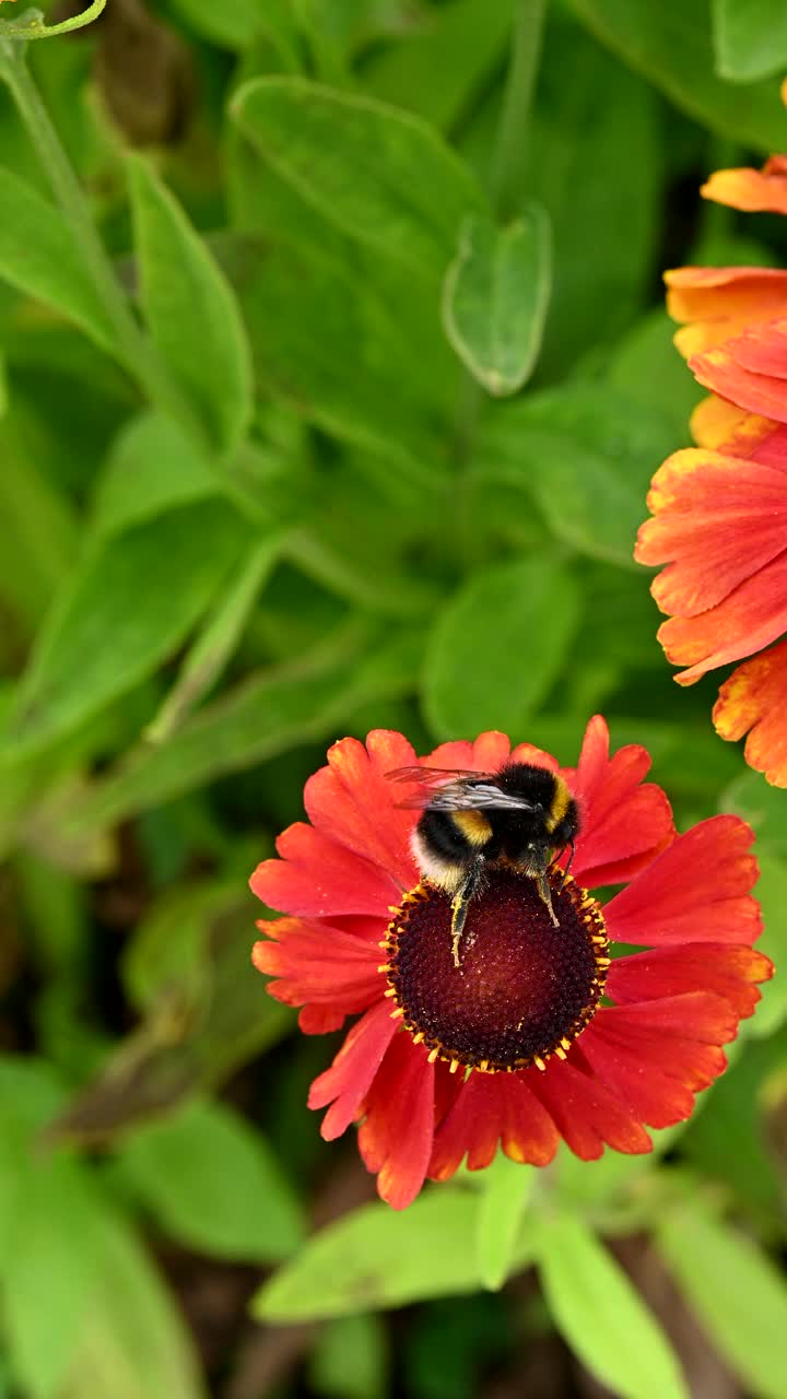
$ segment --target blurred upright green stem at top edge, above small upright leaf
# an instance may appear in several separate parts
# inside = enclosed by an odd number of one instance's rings
[[[521,206],[522,151],[549,0],[521,0],[492,166],[492,207],[506,220]]]

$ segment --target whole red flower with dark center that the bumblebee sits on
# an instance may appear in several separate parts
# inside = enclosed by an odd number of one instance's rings
[[[420,761],[494,771],[510,755],[557,771],[501,733]],[[772,974],[751,947],[752,832],[718,816],[676,835],[664,792],[643,785],[644,748],[611,757],[604,719],[591,719],[577,769],[563,772],[581,830],[571,874],[550,870],[559,928],[532,877],[492,870],[455,967],[450,895],[420,881],[417,811],[395,804],[385,776],[417,761],[398,733],[336,743],[307,782],[311,824],[284,831],[280,858],[251,880],[290,915],[259,923],[253,961],[276,978],[270,993],[302,1006],[308,1034],[360,1014],[311,1087],[309,1105],[328,1108],[322,1135],[360,1122],[363,1160],[398,1209],[465,1156],[489,1165],[499,1143],[538,1165],[560,1137],[584,1160],[605,1144],[648,1151],[646,1125],[690,1114]],[[602,907],[576,880],[625,887]],[[647,950],[611,960],[608,939]]]

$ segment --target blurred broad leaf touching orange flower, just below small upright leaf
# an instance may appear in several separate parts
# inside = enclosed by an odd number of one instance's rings
[[[606,388],[567,385],[490,414],[469,474],[479,484],[518,484],[562,543],[633,569],[650,478],[672,446],[658,409]]]

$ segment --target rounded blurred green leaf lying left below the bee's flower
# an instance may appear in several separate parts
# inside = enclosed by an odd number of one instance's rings
[[[301,1214],[259,1132],[220,1102],[192,1101],[136,1132],[122,1184],[186,1248],[235,1262],[279,1262],[301,1242]]]

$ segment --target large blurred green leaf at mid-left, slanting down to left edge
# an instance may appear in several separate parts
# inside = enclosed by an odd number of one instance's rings
[[[99,539],[39,634],[10,732],[17,750],[50,743],[151,674],[204,611],[246,539],[221,502]]]

